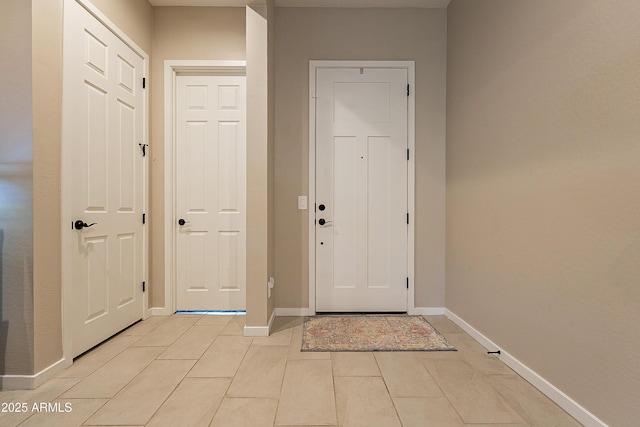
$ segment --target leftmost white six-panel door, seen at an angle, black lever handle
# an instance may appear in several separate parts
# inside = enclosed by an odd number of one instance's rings
[[[71,1],[64,67],[76,356],[143,317],[144,60]]]

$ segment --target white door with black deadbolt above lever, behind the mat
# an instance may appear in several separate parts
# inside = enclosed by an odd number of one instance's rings
[[[407,70],[316,75],[316,311],[407,310]]]

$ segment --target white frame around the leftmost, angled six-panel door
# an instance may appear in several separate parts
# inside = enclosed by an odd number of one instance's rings
[[[143,76],[148,77],[149,70],[149,55],[138,46],[133,40],[131,40],[120,28],[118,28],[109,18],[107,18],[98,8],[96,8],[89,0],[64,0],[63,8],[67,9],[71,7],[73,2],[77,2],[80,6],[86,9],[91,15],[93,15],[98,21],[100,21],[106,28],[108,28],[116,37],[118,37],[124,44],[129,46],[138,56],[140,56],[143,60]],[[64,39],[63,39],[64,40]],[[64,41],[63,41],[64,42]],[[64,94],[64,84],[68,84],[65,79],[64,73],[64,58],[63,58],[63,94]],[[149,90],[144,90],[144,102],[143,102],[143,141],[140,141],[142,144],[149,143]],[[62,103],[62,114],[63,114],[63,128],[62,128],[62,155],[61,155],[61,165],[62,165],[62,184],[61,184],[61,199],[62,199],[62,209],[61,209],[61,217],[62,217],[62,253],[61,253],[61,262],[62,262],[62,357],[65,361],[65,365],[69,366],[73,363],[73,353],[72,353],[72,313],[71,307],[73,306],[73,280],[72,278],[72,256],[68,252],[68,248],[73,247],[73,243],[76,239],[75,233],[71,233],[70,231],[70,223],[72,220],[71,206],[73,205],[73,195],[74,195],[74,180],[71,171],[71,167],[69,167],[68,162],[72,158],[69,152],[73,149],[70,146],[69,140],[67,137],[68,129],[64,127],[64,114],[65,114],[65,99],[63,96]],[[149,195],[149,168],[147,162],[143,163],[143,182],[144,182],[144,194],[143,194],[143,212],[148,212],[148,195]],[[148,281],[149,277],[149,263],[148,263],[148,254],[149,254],[149,233],[146,227],[143,227],[143,277]],[[142,295],[143,301],[143,318],[147,318],[149,316],[148,307],[149,307],[149,298],[148,292],[144,292]]]

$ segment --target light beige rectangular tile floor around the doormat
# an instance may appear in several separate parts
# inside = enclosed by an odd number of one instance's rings
[[[457,352],[301,353],[299,317],[266,338],[243,337],[244,316],[152,317],[36,390],[0,392],[13,409],[0,425],[580,425],[446,317],[428,320]]]

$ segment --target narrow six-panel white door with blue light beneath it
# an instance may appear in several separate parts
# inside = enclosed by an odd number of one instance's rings
[[[178,76],[178,310],[246,306],[244,76]]]

